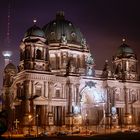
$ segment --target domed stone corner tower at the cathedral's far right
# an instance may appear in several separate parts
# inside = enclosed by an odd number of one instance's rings
[[[132,48],[125,43],[125,39],[123,39],[122,45],[118,48],[113,58],[116,78],[120,80],[138,80],[137,62],[136,54]]]

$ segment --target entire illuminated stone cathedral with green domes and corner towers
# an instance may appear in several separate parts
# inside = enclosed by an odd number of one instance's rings
[[[27,29],[18,66],[5,66],[2,109],[9,125],[40,128],[140,125],[138,60],[123,40],[112,66],[95,69],[83,34],[63,12]],[[17,127],[17,126],[16,126]]]

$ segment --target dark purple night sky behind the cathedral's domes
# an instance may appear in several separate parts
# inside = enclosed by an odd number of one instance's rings
[[[126,43],[136,52],[140,61],[139,0],[10,0],[9,48],[6,45],[8,1],[0,0],[0,54],[4,50],[13,51],[11,59],[15,65],[19,62],[20,41],[33,25],[33,19],[37,19],[37,25],[43,27],[55,18],[57,11],[62,10],[65,18],[84,34],[96,69],[102,69],[106,59],[112,60],[122,38],[126,38]],[[0,77],[3,67],[4,60],[0,55]]]

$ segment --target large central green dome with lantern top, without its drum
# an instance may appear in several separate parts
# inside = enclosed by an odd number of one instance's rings
[[[64,12],[58,12],[56,19],[43,27],[48,44],[61,43],[65,37],[67,43],[76,45],[86,45],[86,40],[80,30],[64,17]]]

